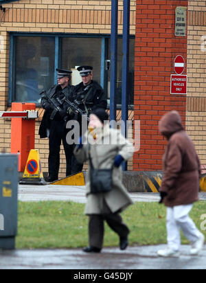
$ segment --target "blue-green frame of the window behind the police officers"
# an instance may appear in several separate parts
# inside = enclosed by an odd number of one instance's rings
[[[102,39],[102,51],[101,51],[101,73],[100,84],[104,90],[106,90],[107,71],[105,69],[105,60],[108,59],[108,39],[111,38],[110,34],[65,34],[65,33],[42,33],[42,32],[9,32],[10,34],[10,57],[9,57],[9,86],[8,86],[8,106],[14,101],[14,78],[15,78],[15,63],[16,63],[16,37],[17,36],[38,36],[38,37],[54,37],[55,38],[55,56],[54,56],[54,84],[57,83],[56,69],[60,67],[61,61],[61,43],[62,38],[101,38]],[[122,38],[119,35],[118,38]],[[135,38],[131,35],[130,38]],[[41,106],[38,102],[34,102],[36,106]],[[118,107],[119,109],[122,106]]]

